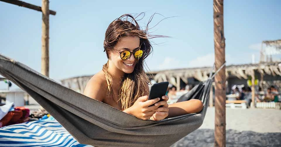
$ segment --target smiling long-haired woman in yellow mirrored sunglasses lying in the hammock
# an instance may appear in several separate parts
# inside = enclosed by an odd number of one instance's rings
[[[135,24],[124,17],[132,18]],[[124,14],[109,24],[104,39],[108,61],[102,71],[87,83],[84,95],[104,102],[139,119],[162,120],[178,115],[200,112],[200,100],[171,105],[163,96],[148,100],[150,83],[143,69],[144,59],[152,52],[147,30],[141,30],[130,14]],[[160,107],[161,106],[161,107]]]

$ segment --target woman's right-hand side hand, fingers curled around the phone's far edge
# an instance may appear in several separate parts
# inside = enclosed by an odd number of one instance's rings
[[[162,120],[165,119],[168,115],[169,115],[169,108],[168,108],[168,103],[167,101],[169,100],[169,97],[167,95],[162,96],[163,101],[157,102],[154,105],[157,106],[158,108],[155,111],[155,113],[153,114],[152,117],[150,117],[150,119],[152,120]],[[159,106],[163,106],[163,107],[159,107]]]

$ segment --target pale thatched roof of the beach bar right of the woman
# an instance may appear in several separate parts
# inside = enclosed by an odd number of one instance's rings
[[[236,76],[238,78],[247,79],[248,75],[253,74],[254,71],[258,71],[260,74],[279,75],[281,76],[281,62],[263,62],[258,64],[240,64],[240,65],[229,65],[226,66],[226,77]],[[207,80],[209,73],[215,72],[212,67],[202,68],[188,68],[188,69],[171,69],[164,71],[153,71],[150,74],[154,76],[154,80],[157,82],[161,81],[175,81],[174,78],[179,76],[185,83],[187,78],[196,78],[199,81]],[[151,78],[151,75],[149,75]]]

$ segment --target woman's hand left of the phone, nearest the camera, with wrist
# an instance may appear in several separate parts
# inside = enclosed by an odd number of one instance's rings
[[[155,110],[160,106],[160,103],[156,103],[160,100],[160,98],[155,98],[153,100],[148,100],[148,96],[142,96],[136,100],[133,106],[129,107],[128,109],[124,110],[128,114],[132,114],[138,119],[147,120],[152,117],[155,113]],[[153,104],[157,105],[153,105]],[[167,103],[167,102],[166,102]],[[162,103],[161,103],[162,104]],[[152,106],[150,106],[152,105]]]

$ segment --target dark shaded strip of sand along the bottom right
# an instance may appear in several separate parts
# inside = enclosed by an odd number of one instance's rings
[[[213,129],[198,129],[187,135],[172,147],[213,147],[215,142]],[[253,131],[226,131],[227,147],[263,147],[281,146],[281,133],[257,133]]]

